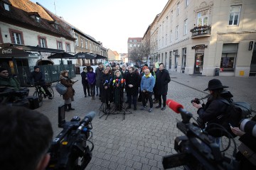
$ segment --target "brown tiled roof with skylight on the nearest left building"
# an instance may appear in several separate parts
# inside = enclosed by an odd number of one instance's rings
[[[28,0],[9,0],[9,2],[11,4],[10,11],[3,10],[2,6],[0,6],[0,21],[48,35],[74,40],[64,28],[59,26],[58,29],[56,29],[50,24],[50,22],[54,22],[54,20],[41,6]],[[40,16],[41,21],[36,22],[31,16]]]

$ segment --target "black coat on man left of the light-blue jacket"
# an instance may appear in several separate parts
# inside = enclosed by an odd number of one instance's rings
[[[130,88],[128,85],[132,84],[133,87]],[[132,74],[127,74],[125,89],[128,95],[136,96],[139,93],[139,74],[133,72]]]

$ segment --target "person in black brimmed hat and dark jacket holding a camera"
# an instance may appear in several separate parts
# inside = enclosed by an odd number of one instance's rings
[[[210,97],[208,97],[208,101],[206,105],[201,105],[200,103],[193,102],[193,106],[198,108],[199,119],[203,124],[205,123],[218,123],[218,116],[225,114],[226,109],[228,108],[228,104],[218,100],[220,98],[225,98],[225,100],[230,101],[233,95],[230,91],[224,90],[224,88],[228,88],[228,86],[223,86],[223,84],[218,79],[211,79],[208,82],[208,88],[204,91],[210,92]],[[213,137],[220,137],[219,130],[208,130],[208,133]],[[220,145],[220,138],[217,138],[216,142]]]

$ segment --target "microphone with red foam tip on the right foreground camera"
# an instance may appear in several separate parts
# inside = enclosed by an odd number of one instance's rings
[[[181,118],[182,118],[183,123],[189,123],[190,118],[193,117],[192,113],[183,109],[183,106],[176,101],[168,99],[166,101],[166,105],[169,108],[171,108],[171,110],[175,111],[176,113],[181,113]]]

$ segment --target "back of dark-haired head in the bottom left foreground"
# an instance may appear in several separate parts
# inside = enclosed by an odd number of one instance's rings
[[[43,170],[53,138],[49,119],[23,107],[0,106],[0,169]]]

